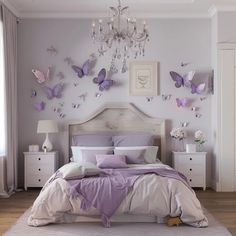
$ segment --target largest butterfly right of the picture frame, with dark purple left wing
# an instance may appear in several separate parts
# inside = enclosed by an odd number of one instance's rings
[[[194,75],[195,75],[195,71],[189,71],[187,74],[183,76],[181,76],[175,71],[170,72],[171,78],[175,81],[176,88],[180,88],[181,86],[190,88]]]

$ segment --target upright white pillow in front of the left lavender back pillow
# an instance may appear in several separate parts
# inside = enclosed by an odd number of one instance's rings
[[[114,147],[81,147],[72,146],[74,162],[91,162],[96,164],[97,154],[113,154]]]

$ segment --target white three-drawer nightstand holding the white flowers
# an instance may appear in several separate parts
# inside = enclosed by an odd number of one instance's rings
[[[206,152],[172,152],[173,168],[183,173],[191,187],[206,190]]]

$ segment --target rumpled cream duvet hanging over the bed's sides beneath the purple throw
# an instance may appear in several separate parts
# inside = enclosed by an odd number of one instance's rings
[[[148,164],[150,167],[170,168],[163,164]],[[130,168],[144,168],[130,165]],[[73,222],[73,216],[98,216],[95,208],[89,211],[80,209],[80,199],[69,195],[70,185],[62,178],[55,179],[39,194],[31,209],[28,224],[42,226],[50,223]],[[159,218],[180,216],[181,220],[195,227],[206,227],[207,218],[196,195],[181,181],[161,177],[156,174],[140,176],[133,189],[121,203],[116,215],[149,215]],[[71,217],[70,217],[71,216]]]

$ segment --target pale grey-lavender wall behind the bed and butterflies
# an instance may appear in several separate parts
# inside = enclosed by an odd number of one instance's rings
[[[94,94],[98,91],[93,84],[92,78],[78,79],[70,67],[63,59],[70,56],[81,65],[93,52],[96,46],[89,37],[91,20],[85,19],[25,19],[19,23],[18,34],[18,105],[19,105],[19,179],[23,180],[23,151],[28,150],[29,144],[42,144],[44,135],[37,134],[37,121],[40,119],[58,119],[63,125],[66,120],[85,118],[98,107],[106,102],[132,102],[143,112],[153,117],[167,119],[167,141],[168,160],[170,162],[171,138],[169,131],[172,127],[179,126],[180,122],[190,122],[187,132],[189,141],[196,129],[202,129],[207,134],[206,150],[211,152],[211,99],[203,102],[199,96],[191,95],[186,88],[176,89],[170,79],[169,71],[175,70],[185,72],[190,69],[206,71],[211,68],[211,23],[210,19],[158,19],[149,20],[150,43],[146,48],[145,58],[140,60],[157,60],[160,62],[160,92],[161,94],[172,94],[170,101],[164,102],[161,96],[155,97],[152,102],[147,102],[145,97],[132,97],[128,94],[128,73],[116,74],[113,79],[119,86],[104,92],[97,99]],[[54,45],[59,50],[57,56],[50,56],[46,48]],[[191,62],[188,67],[181,68],[181,62]],[[96,67],[109,68],[110,58],[99,57]],[[66,78],[66,88],[61,99],[48,101],[40,90],[34,76],[32,68],[46,70],[50,65],[58,71],[64,72]],[[59,80],[54,76],[49,84],[55,84]],[[73,82],[79,82],[79,86],[74,88]],[[38,95],[36,98],[30,97],[30,91],[34,88]],[[88,96],[83,103],[78,95],[87,92]],[[176,106],[176,97],[188,97],[193,100],[193,105],[200,107],[202,117],[195,118],[194,113],[187,108],[179,109]],[[38,101],[47,103],[45,111],[37,112],[32,108],[32,104]],[[64,102],[65,119],[60,119],[53,112],[53,107],[59,102]],[[79,109],[73,109],[73,102],[81,102]],[[60,151],[61,163],[67,160],[64,156],[68,148],[63,141],[66,137],[61,132],[52,137],[55,149]],[[210,176],[210,167],[208,170]],[[208,177],[209,178],[209,177]],[[22,183],[22,182],[21,182]]]

